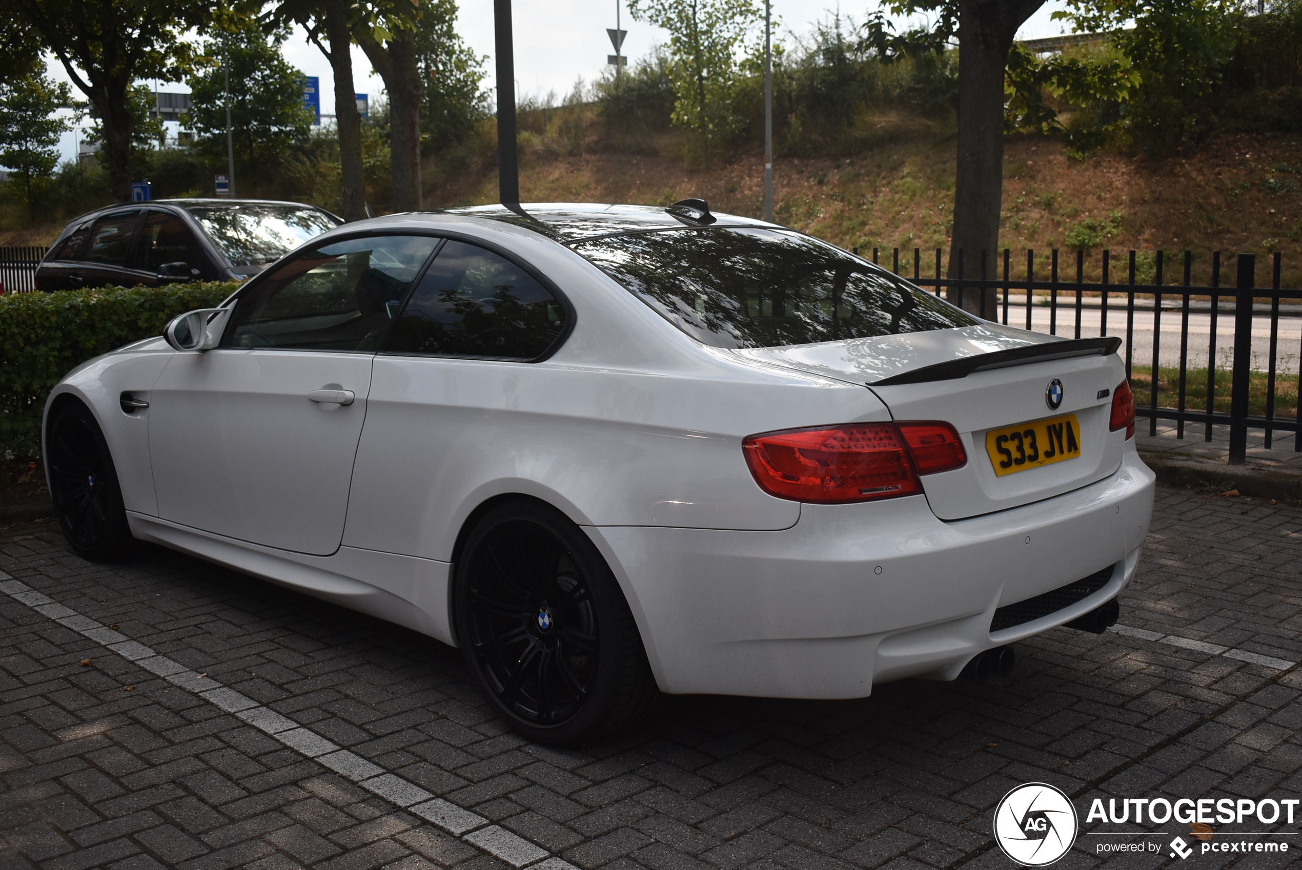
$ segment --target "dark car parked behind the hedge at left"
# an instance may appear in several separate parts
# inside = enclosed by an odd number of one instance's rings
[[[36,268],[36,290],[241,280],[342,222],[314,205],[260,199],[111,205],[64,228]]]

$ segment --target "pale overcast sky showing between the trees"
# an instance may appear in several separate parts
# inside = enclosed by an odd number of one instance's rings
[[[620,25],[628,31],[624,55],[630,61],[644,56],[652,46],[664,42],[665,31],[648,23],[633,21],[628,13],[626,0],[516,0],[513,25],[516,36],[516,79],[518,94],[546,96],[555,91],[557,99],[569,92],[578,77],[592,81],[605,66],[607,55],[613,53],[607,27],[615,27],[616,3],[620,4]],[[1060,0],[1049,0],[1018,31],[1022,39],[1051,36],[1064,33],[1060,22],[1049,21],[1049,13],[1061,8]],[[876,3],[848,3],[840,5],[809,3],[807,0],[773,0],[775,38],[790,39],[792,35],[807,34],[814,22],[827,20],[838,10],[854,21],[863,21]],[[462,0],[457,17],[457,31],[478,55],[488,56],[484,69],[488,73],[487,85],[493,82],[493,17],[492,0]],[[320,77],[322,112],[333,114],[335,88],[329,64],[320,51],[309,43],[302,31],[296,31],[284,46],[285,59],[306,75]],[[65,79],[62,68],[49,59],[52,75]],[[353,47],[353,75],[357,91],[376,95],[383,91],[383,82],[371,70],[370,62],[359,48]],[[163,91],[187,91],[178,83],[163,82]],[[78,96],[82,96],[79,92]],[[83,120],[82,126],[89,126]],[[169,125],[174,127],[176,125]],[[173,130],[174,133],[174,130]],[[64,159],[76,153],[76,137],[81,131],[66,133],[60,148]]]

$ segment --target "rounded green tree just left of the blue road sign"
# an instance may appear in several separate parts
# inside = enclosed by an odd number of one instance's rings
[[[190,74],[186,124],[198,134],[197,147],[220,163],[227,152],[225,75],[229,64],[230,127],[241,178],[275,172],[281,155],[306,142],[312,113],[303,103],[303,74],[280,52],[288,30],[264,34],[250,17],[233,17],[202,43]]]

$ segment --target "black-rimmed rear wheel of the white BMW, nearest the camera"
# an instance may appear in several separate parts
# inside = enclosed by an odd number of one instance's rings
[[[466,667],[493,710],[539,743],[629,728],[660,701],[615,575],[561,512],[509,502],[474,527],[454,611]]]

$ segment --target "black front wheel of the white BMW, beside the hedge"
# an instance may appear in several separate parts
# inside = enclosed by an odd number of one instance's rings
[[[49,415],[46,463],[59,525],[77,555],[91,562],[130,555],[137,542],[113,458],[95,416],[81,402],[64,402]]]

